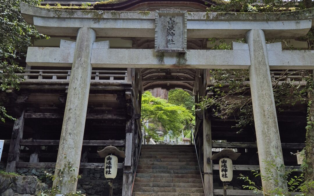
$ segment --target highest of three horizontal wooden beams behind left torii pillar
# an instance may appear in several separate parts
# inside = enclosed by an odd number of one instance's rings
[[[24,118],[63,119],[63,114],[25,113]],[[125,119],[125,114],[86,114],[86,119]]]

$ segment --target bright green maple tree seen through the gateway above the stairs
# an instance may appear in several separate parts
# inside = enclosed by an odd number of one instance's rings
[[[181,135],[187,121],[192,120],[192,114],[181,105],[168,103],[167,100],[156,98],[150,92],[142,95],[141,110],[142,126],[153,139],[158,140],[155,130],[160,126],[164,134],[172,137]],[[149,124],[148,128],[146,124]]]

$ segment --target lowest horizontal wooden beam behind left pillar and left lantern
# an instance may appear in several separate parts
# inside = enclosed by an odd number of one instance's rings
[[[104,163],[81,163],[80,168],[104,168]],[[28,162],[17,162],[16,167],[41,167],[41,168],[54,168],[56,163],[54,162],[37,162],[37,163],[28,163]],[[118,163],[118,168],[123,168],[123,163]]]

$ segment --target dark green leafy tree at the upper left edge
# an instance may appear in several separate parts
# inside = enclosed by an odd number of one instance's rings
[[[19,89],[23,80],[23,67],[19,60],[26,55],[27,47],[34,39],[48,38],[37,32],[33,25],[27,24],[20,13],[20,3],[39,5],[38,0],[0,0],[0,88],[2,91],[10,87]],[[0,119],[13,119],[6,113],[0,103]]]

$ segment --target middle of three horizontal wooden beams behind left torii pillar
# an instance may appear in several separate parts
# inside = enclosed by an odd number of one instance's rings
[[[20,140],[20,145],[58,146],[60,140]],[[83,140],[83,146],[124,146],[123,140]]]

